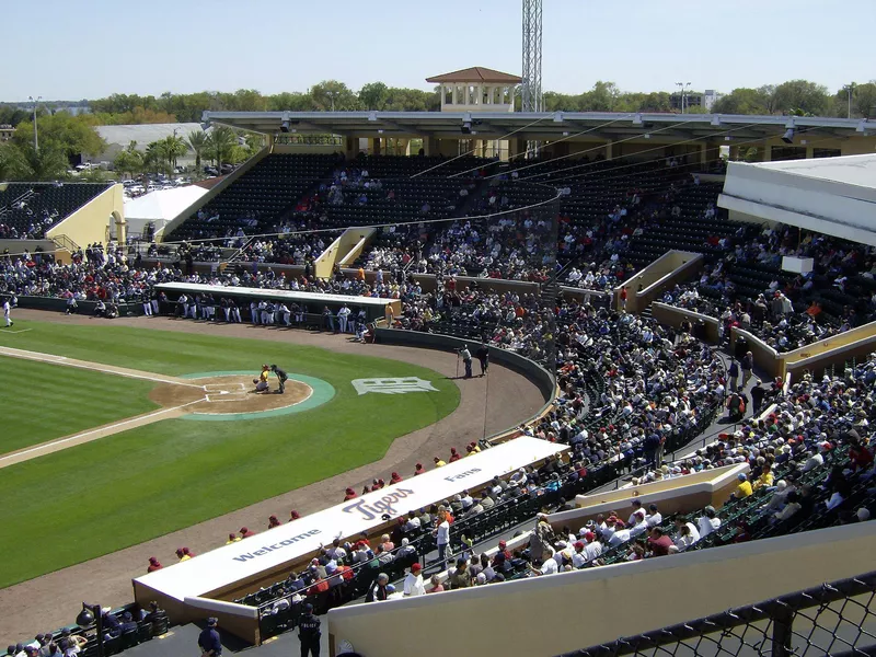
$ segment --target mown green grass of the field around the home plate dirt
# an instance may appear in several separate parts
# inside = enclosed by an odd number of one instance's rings
[[[277,362],[290,373],[327,381],[335,396],[320,407],[280,417],[162,420],[3,469],[3,519],[15,531],[0,534],[4,554],[0,588],[378,460],[394,438],[437,422],[459,404],[459,389],[452,381],[394,360],[209,334],[39,322],[15,322],[15,327],[20,324],[31,331],[0,332],[0,345],[173,376],[255,372],[262,362]],[[9,360],[0,358],[0,364],[5,367]],[[25,370],[49,368],[58,379],[79,373],[25,361],[9,367],[22,365]],[[359,396],[350,384],[359,378],[413,376],[431,381],[439,392]],[[113,378],[101,390],[102,378],[108,381],[110,376],[94,377],[97,388],[91,394],[97,403],[117,404],[114,412],[119,417],[142,412],[145,397],[128,400],[116,392],[119,382],[130,383],[129,379]],[[38,408],[33,402],[26,411],[22,403],[30,393],[16,392],[14,385],[3,390],[3,425],[15,427],[16,435],[27,433],[33,413],[39,413],[41,426],[57,425],[56,435],[71,433],[65,389],[46,391]],[[146,392],[148,385],[138,390]],[[280,515],[288,510],[276,509]],[[254,518],[253,523],[262,520]],[[46,527],[51,528],[53,540],[20,540],[41,535]],[[217,537],[217,542],[222,538]]]

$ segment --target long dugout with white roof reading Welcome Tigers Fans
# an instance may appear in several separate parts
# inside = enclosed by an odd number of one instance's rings
[[[389,485],[275,529],[218,548],[132,580],[135,600],[158,601],[174,623],[217,616],[235,636],[260,644],[258,608],[233,602],[300,570],[334,538],[377,538],[411,509],[428,507],[494,476],[538,465],[568,447],[521,437],[420,476]],[[389,516],[389,520],[384,517]]]

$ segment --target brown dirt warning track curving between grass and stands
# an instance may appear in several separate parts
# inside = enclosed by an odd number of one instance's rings
[[[89,326],[105,324],[210,333],[224,337],[274,339],[322,347],[341,354],[359,354],[411,362],[430,368],[448,378],[453,378],[457,373],[457,356],[453,353],[380,344],[362,345],[351,342],[348,336],[302,330],[266,328],[249,324],[210,324],[171,318],[101,320],[26,309],[19,310],[15,320]],[[252,380],[252,377],[250,379]],[[223,545],[228,533],[241,527],[245,526],[255,531],[266,529],[267,517],[272,514],[276,514],[285,522],[291,509],[302,515],[312,514],[339,503],[347,486],[353,486],[358,492],[376,477],[389,481],[392,472],[408,477],[417,462],[423,462],[429,468],[434,456],[447,458],[451,447],[464,449],[466,443],[483,436],[484,428],[487,435],[491,435],[514,427],[532,417],[544,405],[544,399],[533,382],[517,371],[497,364],[489,366],[488,396],[486,379],[459,380],[458,385],[460,403],[456,411],[428,427],[396,438],[379,461],[146,543],[0,589],[0,636],[8,643],[15,643],[35,636],[39,632],[66,625],[81,609],[82,600],[112,606],[130,602],[134,598],[130,580],[146,573],[147,560],[150,556],[157,556],[164,564],[172,564],[176,558],[173,552],[181,545],[191,548],[195,553],[206,552]]]

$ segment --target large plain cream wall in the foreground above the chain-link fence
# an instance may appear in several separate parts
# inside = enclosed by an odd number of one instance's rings
[[[876,522],[328,612],[365,657],[548,657],[873,569]],[[446,629],[440,641],[429,637]]]

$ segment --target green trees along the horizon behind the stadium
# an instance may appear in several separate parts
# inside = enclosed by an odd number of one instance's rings
[[[516,102],[520,102],[519,94]],[[89,112],[76,116],[65,110],[72,105],[77,103],[43,103],[36,107],[39,128],[39,148],[36,150],[32,141],[32,111],[15,104],[0,104],[0,124],[12,124],[18,128],[10,142],[0,143],[0,181],[64,177],[73,158],[95,157],[106,150],[106,143],[94,130],[95,126],[198,123],[206,110],[434,112],[440,108],[440,90],[422,91],[369,82],[359,91],[354,91],[337,80],[325,80],[307,92],[273,95],[262,94],[254,89],[230,93],[168,92],[158,97],[113,94],[105,99],[81,101],[78,105],[87,105]],[[672,107],[672,93],[626,92],[613,82],[599,81],[580,94],[544,93],[544,108],[549,112],[671,112]],[[687,111],[704,113],[705,108],[689,106]],[[876,116],[876,81],[852,83],[833,93],[825,85],[808,80],[789,80],[757,89],[739,88],[721,97],[712,112],[872,117]],[[130,175],[172,172],[177,159],[192,151],[200,170],[201,158],[217,162],[219,166],[226,162],[237,163],[261,145],[258,136],[239,135],[228,128],[212,130],[211,135],[209,138],[198,132],[187,137],[169,137],[148,145],[145,152],[135,146],[119,153],[115,164],[119,171]]]

